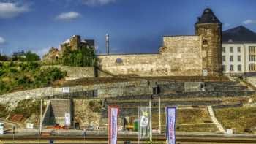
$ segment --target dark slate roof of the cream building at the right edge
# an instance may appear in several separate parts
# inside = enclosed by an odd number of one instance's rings
[[[256,42],[256,33],[244,26],[222,32],[222,42]]]

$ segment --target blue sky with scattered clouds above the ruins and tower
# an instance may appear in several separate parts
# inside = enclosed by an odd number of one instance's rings
[[[256,31],[255,0],[0,0],[0,52],[32,50],[42,56],[72,35],[95,39],[97,52],[157,53],[164,35],[195,34],[206,7],[223,29]]]

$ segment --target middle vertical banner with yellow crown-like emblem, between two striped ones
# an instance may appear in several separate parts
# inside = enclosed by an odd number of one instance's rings
[[[151,107],[139,107],[139,140],[151,139]]]

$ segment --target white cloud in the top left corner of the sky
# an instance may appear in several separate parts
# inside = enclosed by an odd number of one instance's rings
[[[18,3],[0,2],[0,18],[13,18],[23,12],[28,12],[29,6]]]

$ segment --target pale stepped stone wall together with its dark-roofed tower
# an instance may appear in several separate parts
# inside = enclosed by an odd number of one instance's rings
[[[206,76],[222,73],[222,23],[210,9],[195,23],[195,36],[165,36],[157,54],[98,56],[115,75]]]

